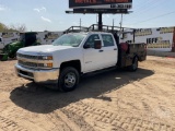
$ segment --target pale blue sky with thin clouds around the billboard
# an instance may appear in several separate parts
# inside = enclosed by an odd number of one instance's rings
[[[132,11],[124,14],[122,26],[135,28],[175,26],[175,0],[132,0]],[[21,24],[27,31],[65,31],[73,25],[97,23],[97,14],[67,14],[69,0],[0,0],[0,23]],[[119,26],[121,14],[103,14],[103,24]]]

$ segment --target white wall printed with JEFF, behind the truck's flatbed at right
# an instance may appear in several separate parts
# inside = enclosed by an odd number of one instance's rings
[[[145,43],[148,50],[175,51],[175,27],[140,28],[135,35],[135,43]],[[124,41],[133,43],[133,34],[125,34]]]

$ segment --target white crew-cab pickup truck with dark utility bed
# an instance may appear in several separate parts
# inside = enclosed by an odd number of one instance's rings
[[[80,75],[110,67],[136,71],[145,60],[144,44],[117,44],[112,33],[69,33],[52,45],[21,48],[15,71],[36,83],[52,83],[63,92],[79,84]]]

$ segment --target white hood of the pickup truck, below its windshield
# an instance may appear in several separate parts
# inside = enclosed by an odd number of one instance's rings
[[[58,50],[71,49],[74,47],[71,46],[52,46],[52,45],[43,45],[43,46],[32,46],[19,49],[18,52],[25,55],[36,55],[36,53],[51,53]]]

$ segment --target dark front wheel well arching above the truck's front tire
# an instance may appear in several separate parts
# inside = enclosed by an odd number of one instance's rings
[[[60,70],[62,70],[66,67],[73,67],[79,71],[79,73],[81,73],[80,60],[72,60],[72,61],[62,62],[60,66]]]

